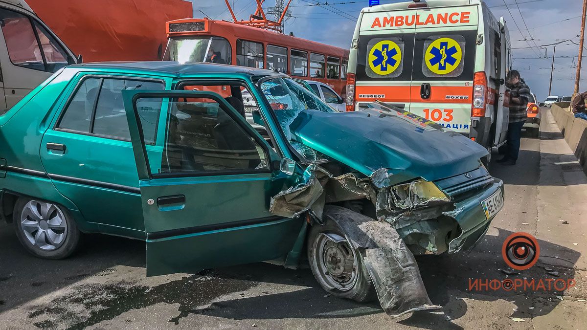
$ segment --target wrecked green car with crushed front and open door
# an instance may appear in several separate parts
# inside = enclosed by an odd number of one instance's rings
[[[414,255],[473,247],[500,210],[486,152],[383,103],[335,112],[269,70],[73,65],[0,113],[0,216],[42,258],[104,233],[146,241],[147,275],[307,263],[399,314],[433,306]]]

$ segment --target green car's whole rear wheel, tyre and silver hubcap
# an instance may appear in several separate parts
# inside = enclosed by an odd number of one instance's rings
[[[14,207],[16,236],[36,257],[69,257],[79,243],[80,232],[62,206],[49,201],[21,197]]]

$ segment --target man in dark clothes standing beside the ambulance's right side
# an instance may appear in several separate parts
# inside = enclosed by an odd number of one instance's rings
[[[519,140],[522,137],[522,127],[528,119],[526,114],[530,87],[524,83],[517,70],[508,72],[505,85],[510,89],[510,123],[508,124],[507,144],[505,156],[498,160],[502,165],[515,165],[518,161]]]

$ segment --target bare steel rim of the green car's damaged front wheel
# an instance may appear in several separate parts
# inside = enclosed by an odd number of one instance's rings
[[[330,237],[329,237],[330,236]],[[338,237],[336,241],[332,237]],[[349,243],[336,234],[320,234],[316,238],[314,263],[318,281],[328,289],[348,291],[357,281],[357,258]]]

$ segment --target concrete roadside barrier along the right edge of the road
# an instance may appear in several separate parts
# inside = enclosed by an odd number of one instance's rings
[[[554,103],[551,113],[566,143],[569,144],[579,159],[583,171],[587,174],[587,120],[575,118],[569,109],[569,102]]]

